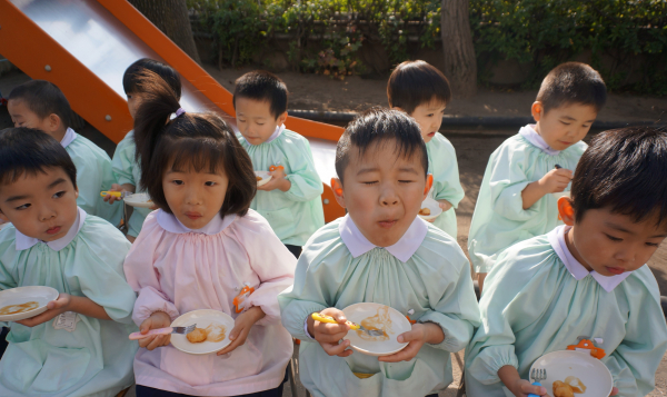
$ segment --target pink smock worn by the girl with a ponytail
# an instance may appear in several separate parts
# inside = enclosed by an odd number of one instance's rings
[[[253,210],[243,217],[216,217],[202,229],[186,228],[173,215],[151,212],[125,261],[128,282],[138,292],[132,319],[141,325],[155,311],[171,319],[197,309],[232,318],[233,299],[243,287],[255,291],[243,302],[259,306],[246,344],[225,356],[189,355],[168,345],[135,357],[138,385],[196,396],[236,396],[276,388],[292,355],[280,324],[278,294],[293,281],[296,258],[269,224]]]

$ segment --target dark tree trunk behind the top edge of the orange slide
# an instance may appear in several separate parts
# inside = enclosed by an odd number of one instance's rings
[[[167,34],[197,63],[201,63],[186,0],[129,0],[139,12]]]

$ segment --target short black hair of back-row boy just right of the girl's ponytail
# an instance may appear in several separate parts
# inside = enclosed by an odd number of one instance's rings
[[[233,107],[237,98],[248,98],[270,103],[271,116],[278,118],[287,111],[287,86],[278,76],[266,70],[255,70],[239,77],[233,88]]]

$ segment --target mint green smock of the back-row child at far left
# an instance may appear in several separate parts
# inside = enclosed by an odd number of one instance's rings
[[[116,183],[111,170],[111,159],[107,152],[90,140],[77,133],[64,150],[70,155],[77,167],[77,187],[79,197],[77,205],[87,214],[106,219],[113,226],[120,224],[122,205],[109,205],[100,196],[101,191],[111,189]]]

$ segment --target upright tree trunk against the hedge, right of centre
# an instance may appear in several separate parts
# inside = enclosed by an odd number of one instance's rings
[[[477,58],[470,32],[469,0],[442,0],[441,9],[445,75],[454,95],[469,98],[477,92]]]

